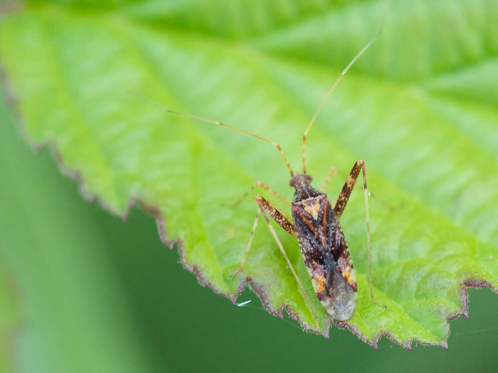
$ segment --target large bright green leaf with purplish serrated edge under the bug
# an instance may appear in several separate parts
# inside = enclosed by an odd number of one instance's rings
[[[307,122],[385,17],[381,37],[308,136],[316,186],[336,165],[328,188],[334,199],[363,158],[374,195],[373,285],[387,309],[370,299],[359,189],[341,219],[358,306],[336,325],[374,347],[383,333],[406,348],[413,340],[446,346],[447,320],[468,313],[465,286],[497,291],[498,35],[491,30],[498,7],[278,4],[147,1],[91,11],[85,2],[37,4],[5,17],[0,56],[28,138],[50,143],[84,194],[109,210],[125,215],[138,201],[156,214],[164,241],[180,238],[182,263],[201,283],[235,302],[250,276],[269,312],[282,316],[285,308],[313,330],[264,224],[244,274],[229,278],[256,205],[251,197],[236,210],[227,204],[256,180],[291,198],[278,153],[226,128],[166,114],[136,93],[277,141],[297,170]],[[297,243],[277,233],[319,313],[318,332],[328,336],[332,320],[313,295]]]

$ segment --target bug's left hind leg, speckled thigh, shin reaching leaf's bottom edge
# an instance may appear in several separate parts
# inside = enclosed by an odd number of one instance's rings
[[[285,258],[287,265],[289,266],[290,270],[292,271],[292,274],[294,275],[294,278],[297,281],[297,284],[299,285],[299,288],[301,289],[301,292],[304,295],[304,298],[306,302],[308,303],[308,306],[310,307],[311,313],[313,314],[313,317],[315,318],[315,326],[316,330],[319,330],[318,327],[318,316],[315,311],[315,307],[313,307],[313,304],[310,301],[310,298],[308,297],[308,294],[306,294],[306,291],[304,290],[304,286],[301,283],[301,280],[299,280],[299,277],[297,276],[296,271],[294,270],[294,267],[292,267],[292,263],[290,263],[289,257],[287,256],[287,253],[285,252],[285,249],[283,248],[280,240],[278,239],[278,236],[273,229],[272,225],[270,224],[270,220],[268,219],[267,214],[269,214],[277,223],[280,225],[282,228],[284,228],[288,233],[292,234],[295,236],[294,232],[294,226],[292,223],[285,218],[285,216],[274,206],[272,206],[272,203],[261,197],[260,195],[256,195],[255,200],[264,216],[264,219],[266,220],[266,223],[268,224],[268,229],[270,230],[271,234],[273,235],[273,238],[275,239],[278,248],[282,252],[283,257]],[[284,219],[284,220],[282,220]],[[289,228],[292,228],[292,233],[290,232]]]

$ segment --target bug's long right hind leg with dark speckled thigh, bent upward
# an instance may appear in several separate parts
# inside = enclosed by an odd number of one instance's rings
[[[334,206],[334,211],[337,215],[337,218],[339,219],[342,213],[344,212],[346,204],[348,203],[351,191],[353,190],[353,187],[355,187],[355,182],[356,179],[358,179],[358,175],[360,175],[360,170],[362,170],[363,173],[363,192],[365,194],[365,214],[367,217],[367,247],[368,247],[368,257],[369,257],[370,296],[375,302],[379,303],[384,308],[387,308],[387,306],[384,303],[375,299],[375,297],[373,296],[372,254],[370,246],[370,214],[369,214],[369,198],[368,198],[369,192],[367,188],[367,175],[365,173],[365,162],[363,161],[363,159],[359,159],[358,161],[356,161],[355,165],[353,166],[353,169],[351,170],[348,176],[348,180],[346,180],[346,183],[344,183],[344,187],[341,190],[341,194],[339,194],[339,197],[337,198],[336,204]]]

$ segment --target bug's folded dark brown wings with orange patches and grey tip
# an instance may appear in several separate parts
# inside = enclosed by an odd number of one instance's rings
[[[356,309],[353,263],[339,221],[323,194],[292,205],[301,255],[318,299],[335,320],[348,320]]]

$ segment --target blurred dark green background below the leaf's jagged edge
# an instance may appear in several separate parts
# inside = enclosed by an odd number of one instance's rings
[[[262,310],[236,307],[183,270],[154,219],[87,202],[45,148],[21,140],[0,103],[0,264],[11,307],[7,371],[20,372],[496,372],[498,297],[470,289],[470,320],[451,322],[449,350],[375,351],[348,331],[331,339]],[[2,307],[3,308],[3,307]],[[12,309],[12,308],[11,308]],[[3,318],[3,317],[2,317]]]

